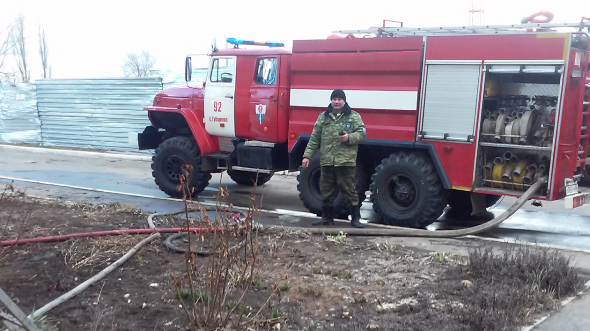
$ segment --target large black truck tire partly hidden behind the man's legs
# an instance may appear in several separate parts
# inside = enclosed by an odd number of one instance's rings
[[[337,190],[337,188],[335,188]],[[356,165],[356,192],[359,195],[359,206],[365,201],[365,192],[369,189],[368,176],[361,163]],[[297,191],[303,205],[310,212],[322,216],[322,194],[320,193],[320,156],[316,154],[309,161],[307,169],[299,168],[297,175]],[[334,201],[334,217],[348,219],[350,207],[346,204],[342,194],[338,192]]]

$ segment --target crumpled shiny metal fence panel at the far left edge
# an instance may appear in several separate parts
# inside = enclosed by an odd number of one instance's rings
[[[0,83],[0,142],[41,144],[35,84]]]

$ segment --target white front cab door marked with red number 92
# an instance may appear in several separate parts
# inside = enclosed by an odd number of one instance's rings
[[[214,56],[205,84],[205,130],[212,136],[235,137],[235,56]]]

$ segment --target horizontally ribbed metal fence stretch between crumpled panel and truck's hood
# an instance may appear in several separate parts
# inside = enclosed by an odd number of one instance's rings
[[[137,150],[149,125],[143,107],[162,90],[162,78],[48,79],[37,82],[42,144]]]

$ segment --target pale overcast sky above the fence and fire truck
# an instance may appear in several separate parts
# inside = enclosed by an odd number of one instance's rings
[[[378,26],[383,19],[405,27],[467,25],[472,2],[483,2],[484,24],[517,24],[543,9],[555,14],[553,22],[590,17],[585,0],[2,0],[0,28],[24,15],[32,78],[40,77],[39,25],[54,78],[120,77],[127,53],[145,50],[156,57],[156,69],[182,71],[184,57],[207,53],[214,36],[219,48],[224,36],[290,46],[333,30]]]

